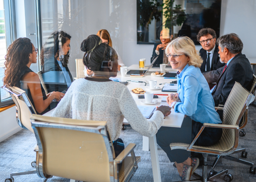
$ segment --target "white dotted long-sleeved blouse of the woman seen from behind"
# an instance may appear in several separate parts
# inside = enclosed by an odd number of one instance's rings
[[[72,82],[65,96],[52,112],[53,117],[107,121],[110,137],[115,141],[124,118],[131,127],[146,137],[155,135],[163,124],[163,114],[155,111],[144,118],[131,92],[124,84],[113,81],[101,82],[87,77]],[[104,79],[107,80],[107,79]]]

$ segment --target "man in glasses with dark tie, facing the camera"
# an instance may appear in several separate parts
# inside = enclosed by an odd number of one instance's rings
[[[214,29],[202,28],[197,34],[197,41],[200,42],[202,49],[199,51],[203,59],[201,72],[217,70],[225,65],[219,61],[218,46],[216,45],[216,33]]]

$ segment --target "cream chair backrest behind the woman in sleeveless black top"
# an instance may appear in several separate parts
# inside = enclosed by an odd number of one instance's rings
[[[36,114],[36,112],[26,92],[18,87],[4,86],[4,90],[11,94],[16,104],[16,119],[19,126],[34,133],[31,127],[30,116]]]

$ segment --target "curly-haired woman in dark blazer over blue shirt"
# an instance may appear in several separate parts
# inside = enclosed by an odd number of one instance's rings
[[[68,58],[70,50],[71,36],[64,31],[55,31],[45,41],[41,50],[40,60],[42,73],[48,71],[60,71],[57,74],[63,78],[67,84],[46,84],[48,92],[67,91],[73,82],[72,75],[68,69]]]

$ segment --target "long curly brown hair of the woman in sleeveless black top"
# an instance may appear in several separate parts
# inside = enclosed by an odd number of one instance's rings
[[[29,38],[18,38],[8,47],[5,55],[3,82],[7,86],[18,86],[20,73],[29,63],[32,54],[32,43]]]

